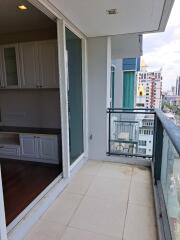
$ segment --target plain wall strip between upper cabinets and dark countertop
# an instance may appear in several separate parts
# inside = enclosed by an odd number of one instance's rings
[[[60,127],[58,90],[0,91],[1,125]]]

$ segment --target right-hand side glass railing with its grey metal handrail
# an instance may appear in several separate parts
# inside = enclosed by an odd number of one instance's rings
[[[156,110],[155,129],[153,164],[161,222],[165,239],[180,240],[180,128]]]

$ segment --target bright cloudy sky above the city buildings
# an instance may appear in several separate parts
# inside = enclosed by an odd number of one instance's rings
[[[180,75],[180,1],[175,0],[165,32],[146,34],[143,40],[144,60],[149,70],[163,71],[163,90],[175,85]]]

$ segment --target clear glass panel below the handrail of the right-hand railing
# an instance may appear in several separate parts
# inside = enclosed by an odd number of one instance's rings
[[[163,136],[161,184],[173,239],[180,240],[180,155],[166,131]]]

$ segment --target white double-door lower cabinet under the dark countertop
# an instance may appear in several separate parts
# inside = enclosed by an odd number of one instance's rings
[[[55,135],[20,135],[21,159],[58,163],[58,138]]]

